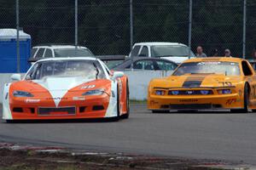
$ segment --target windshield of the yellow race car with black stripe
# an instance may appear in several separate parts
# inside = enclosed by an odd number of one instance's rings
[[[233,62],[193,62],[183,63],[172,75],[182,76],[184,74],[224,74],[225,76],[239,76],[240,68],[238,63]]]

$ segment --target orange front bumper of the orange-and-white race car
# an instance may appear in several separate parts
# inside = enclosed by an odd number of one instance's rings
[[[15,98],[10,99],[10,117],[12,120],[103,118],[108,106],[113,105],[110,99],[108,94],[71,97],[61,99],[60,105],[56,106],[52,99]]]

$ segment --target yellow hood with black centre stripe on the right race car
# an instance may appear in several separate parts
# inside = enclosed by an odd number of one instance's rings
[[[157,88],[214,88],[234,86],[241,77],[227,77],[221,74],[186,74],[154,79],[152,87]]]

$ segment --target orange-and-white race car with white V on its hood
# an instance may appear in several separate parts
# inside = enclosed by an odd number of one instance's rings
[[[3,120],[129,116],[128,79],[95,58],[41,59],[3,91]]]

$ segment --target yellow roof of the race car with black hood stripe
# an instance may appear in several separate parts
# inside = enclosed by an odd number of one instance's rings
[[[194,59],[187,59],[183,61],[183,63],[190,63],[190,62],[201,62],[201,61],[229,61],[229,62],[240,62],[241,58],[236,57],[207,57],[207,58],[194,58]]]

